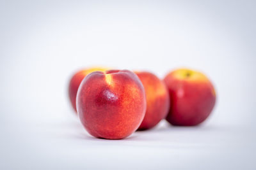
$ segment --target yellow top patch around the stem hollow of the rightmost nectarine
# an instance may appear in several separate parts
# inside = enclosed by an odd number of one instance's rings
[[[193,71],[191,69],[177,69],[172,72],[173,76],[180,80],[188,81],[208,81],[208,78],[199,71]]]

